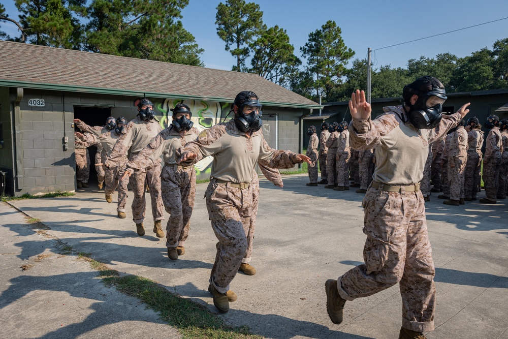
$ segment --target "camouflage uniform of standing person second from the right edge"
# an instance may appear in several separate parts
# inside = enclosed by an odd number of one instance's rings
[[[502,137],[499,127],[490,130],[485,140],[485,158],[483,160],[483,181],[485,196],[490,200],[497,200],[499,190],[499,170],[501,167],[501,153],[503,151]]]

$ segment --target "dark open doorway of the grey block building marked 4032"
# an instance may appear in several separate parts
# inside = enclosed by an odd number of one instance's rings
[[[111,108],[109,107],[83,107],[74,106],[74,118],[80,119],[88,126],[104,126],[106,118],[111,116]],[[95,169],[95,156],[97,153],[97,146],[88,148],[90,155],[90,177],[88,178],[88,185],[90,189],[97,190],[97,171]]]

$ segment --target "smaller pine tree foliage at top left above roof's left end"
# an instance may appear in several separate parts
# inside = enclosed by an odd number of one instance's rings
[[[14,39],[37,45],[80,49],[83,35],[77,16],[86,0],[15,0],[22,36]]]

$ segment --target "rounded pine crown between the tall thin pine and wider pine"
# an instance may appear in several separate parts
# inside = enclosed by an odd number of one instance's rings
[[[283,84],[287,74],[301,64],[300,59],[293,54],[295,48],[289,42],[285,29],[275,25],[260,32],[259,38],[249,44],[255,51],[252,56],[250,73],[259,74],[277,84]]]

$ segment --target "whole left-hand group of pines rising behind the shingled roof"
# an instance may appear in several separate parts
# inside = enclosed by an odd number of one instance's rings
[[[203,66],[196,39],[179,19],[188,0],[15,0],[19,19],[0,4],[0,22],[18,26],[0,39]]]

